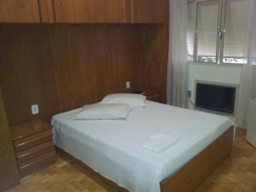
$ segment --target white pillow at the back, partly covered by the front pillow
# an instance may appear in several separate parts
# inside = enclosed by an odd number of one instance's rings
[[[110,94],[102,99],[102,103],[123,103],[133,108],[145,108],[146,96],[141,94],[119,93]]]

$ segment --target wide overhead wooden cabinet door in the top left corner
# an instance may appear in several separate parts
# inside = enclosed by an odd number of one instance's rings
[[[38,0],[1,0],[0,22],[40,22]]]

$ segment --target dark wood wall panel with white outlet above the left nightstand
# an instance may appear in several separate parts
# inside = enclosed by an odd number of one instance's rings
[[[0,82],[10,125],[59,111],[48,34],[48,26],[0,28]],[[32,115],[32,104],[38,104],[38,115]]]

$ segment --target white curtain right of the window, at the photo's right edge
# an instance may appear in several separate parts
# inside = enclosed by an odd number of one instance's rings
[[[256,0],[249,1],[246,49],[248,65],[242,67],[241,84],[236,108],[236,124],[242,128],[247,127],[247,103],[250,99],[256,98],[256,65],[253,65],[256,59]]]

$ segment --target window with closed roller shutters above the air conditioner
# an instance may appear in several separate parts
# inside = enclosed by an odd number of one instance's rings
[[[189,0],[189,61],[247,64],[248,6],[248,0]]]

